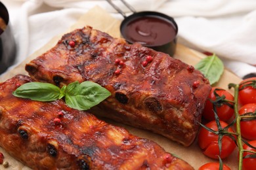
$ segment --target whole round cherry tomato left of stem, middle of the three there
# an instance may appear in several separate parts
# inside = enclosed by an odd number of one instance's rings
[[[220,121],[221,127],[226,127],[228,124],[226,124],[223,121]],[[207,124],[205,124],[206,127],[209,127],[215,131],[218,130],[217,124],[215,121],[211,121]],[[234,132],[231,128],[228,128],[228,132]],[[221,141],[222,148],[221,148],[221,158],[226,158],[229,156],[233,150],[236,148],[236,143],[232,141],[232,139],[228,136],[223,136],[223,139]],[[208,131],[205,128],[201,128],[198,134],[198,144],[200,148],[203,150],[203,154],[206,156],[219,160],[219,144],[218,144],[218,135],[215,133],[212,133],[211,131]]]

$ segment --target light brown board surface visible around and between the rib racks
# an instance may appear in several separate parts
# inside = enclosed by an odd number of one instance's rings
[[[112,18],[108,12],[100,9],[99,7],[95,7],[83,16],[77,21],[75,25],[70,27],[67,32],[72,31],[76,28],[81,28],[85,25],[91,25],[94,29],[98,29],[100,31],[104,31],[106,33],[109,33],[113,37],[120,37],[119,33],[119,25],[121,21],[116,20],[115,18]],[[64,33],[63,33],[64,34]],[[5,75],[2,75],[0,77],[0,82],[3,82],[7,80],[8,78],[11,78],[12,76],[16,74],[26,74],[26,71],[24,70],[24,66],[26,63],[28,63],[33,58],[36,58],[37,56],[40,56],[50,48],[52,48],[56,42],[58,42],[58,39],[60,39],[62,35],[58,35],[54,37],[49,43],[45,44],[42,48],[37,50],[32,56],[29,56],[26,61],[6,73]],[[190,65],[195,65],[200,61],[200,59],[205,58],[205,55],[203,55],[200,52],[197,52],[195,50],[192,50],[190,48],[187,48],[186,46],[182,46],[181,44],[177,44],[177,50],[175,52],[174,58],[181,59],[184,63],[188,63]],[[228,84],[230,82],[238,83],[240,82],[240,78],[238,76],[234,75],[228,70],[225,70],[223,75],[221,76],[221,80],[216,84],[216,86],[222,87],[224,89],[228,89]],[[232,91],[231,91],[232,92]],[[210,158],[207,158],[202,154],[202,151],[200,150],[197,141],[195,141],[191,146],[184,147],[180,144],[177,144],[173,141],[170,141],[169,139],[162,137],[160,135],[151,133],[150,131],[144,131],[141,129],[137,129],[135,127],[125,126],[120,123],[112,122],[111,120],[106,120],[106,122],[109,122],[111,124],[116,124],[117,126],[123,126],[127,128],[131,133],[139,136],[144,137],[147,139],[151,139],[152,141],[155,141],[156,143],[160,144],[167,152],[170,152],[172,154],[175,154],[179,158],[182,158],[185,161],[188,161],[195,169],[198,169],[201,165],[204,163],[210,162],[210,161],[216,161],[211,160]],[[5,161],[9,161],[10,167],[9,169],[30,169],[26,166],[24,166],[19,161],[12,158],[3,148],[0,147],[0,152],[3,152],[5,155]],[[237,151],[232,154],[228,159],[223,160],[224,163],[226,163],[231,169],[237,169]],[[3,169],[3,166],[0,165],[0,169]]]

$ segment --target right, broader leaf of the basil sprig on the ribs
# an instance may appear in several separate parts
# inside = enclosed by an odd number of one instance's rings
[[[69,107],[78,110],[87,110],[98,105],[110,96],[111,93],[95,82],[73,82],[66,88],[65,101]]]

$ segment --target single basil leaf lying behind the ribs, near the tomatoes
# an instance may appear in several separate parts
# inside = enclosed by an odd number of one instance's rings
[[[224,71],[223,62],[215,54],[203,58],[195,65],[195,68],[201,71],[201,73],[209,79],[210,84],[218,82]]]

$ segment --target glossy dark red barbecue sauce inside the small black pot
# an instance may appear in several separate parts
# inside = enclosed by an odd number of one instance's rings
[[[143,16],[135,18],[123,27],[123,35],[129,42],[146,46],[159,46],[175,39],[177,29],[165,18]]]

